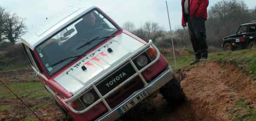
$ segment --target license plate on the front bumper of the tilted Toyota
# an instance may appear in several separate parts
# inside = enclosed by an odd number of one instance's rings
[[[141,100],[143,100],[145,97],[148,96],[147,91],[143,91],[142,93],[140,93],[139,95],[137,95],[135,98],[133,98],[131,101],[129,101],[128,103],[124,104],[122,107],[120,107],[118,109],[119,113],[124,114],[125,112],[127,112],[131,107],[133,107],[134,105],[136,105],[137,103],[139,103]]]

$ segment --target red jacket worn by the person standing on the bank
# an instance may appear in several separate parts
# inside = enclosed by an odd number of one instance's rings
[[[184,1],[181,0],[182,6],[182,25],[186,24],[187,19],[184,16]],[[209,5],[209,0],[189,0],[189,16],[190,17],[203,17],[207,20],[207,7]]]

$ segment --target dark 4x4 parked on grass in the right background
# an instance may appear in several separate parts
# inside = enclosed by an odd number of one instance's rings
[[[242,24],[236,34],[224,37],[222,47],[227,51],[236,48],[256,48],[256,21]]]

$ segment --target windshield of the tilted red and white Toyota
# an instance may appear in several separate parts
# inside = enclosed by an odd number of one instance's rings
[[[112,37],[117,28],[99,11],[85,14],[40,44],[36,51],[49,76]]]

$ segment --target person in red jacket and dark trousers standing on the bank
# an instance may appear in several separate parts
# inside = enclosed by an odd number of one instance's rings
[[[189,27],[189,35],[195,52],[193,65],[199,61],[207,61],[208,45],[206,40],[205,20],[207,20],[207,7],[209,0],[181,0],[182,26]]]

